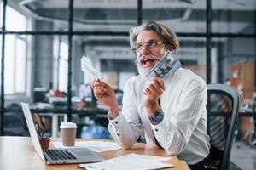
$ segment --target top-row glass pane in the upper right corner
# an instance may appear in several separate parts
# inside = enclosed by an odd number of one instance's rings
[[[212,1],[212,31],[255,33],[255,1]],[[254,23],[254,24],[253,24]]]

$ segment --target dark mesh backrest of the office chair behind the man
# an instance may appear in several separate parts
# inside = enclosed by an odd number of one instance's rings
[[[230,152],[235,137],[240,95],[224,84],[207,85],[207,133],[210,144],[223,151],[219,169],[230,169]]]

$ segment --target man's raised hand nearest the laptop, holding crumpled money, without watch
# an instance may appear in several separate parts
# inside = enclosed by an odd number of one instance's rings
[[[98,78],[94,79],[90,85],[96,99],[108,106],[111,119],[117,117],[119,115],[119,106],[113,88],[107,83],[101,82]]]

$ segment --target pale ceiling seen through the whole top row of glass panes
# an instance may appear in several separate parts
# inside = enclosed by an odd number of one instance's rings
[[[74,31],[129,31],[137,26],[137,0],[74,0]],[[206,0],[143,0],[143,20],[157,20],[177,32],[206,31]],[[68,0],[15,1],[20,8],[55,26],[68,19]],[[212,32],[250,31],[256,1],[212,0]],[[59,22],[58,22],[59,21]],[[65,26],[64,26],[65,27]]]

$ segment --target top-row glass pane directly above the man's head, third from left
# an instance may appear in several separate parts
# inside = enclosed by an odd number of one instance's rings
[[[143,21],[155,20],[173,31],[206,32],[206,1],[143,1]]]

